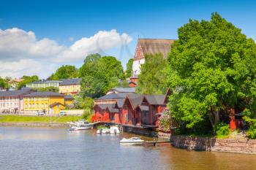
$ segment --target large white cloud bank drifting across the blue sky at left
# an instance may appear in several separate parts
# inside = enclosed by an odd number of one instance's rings
[[[131,41],[131,36],[113,29],[98,31],[94,36],[83,37],[68,47],[53,39],[37,39],[32,31],[0,29],[0,76],[39,74],[40,77],[48,77],[61,63],[83,61],[86,55],[104,53]]]

